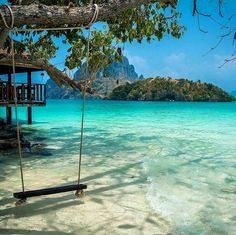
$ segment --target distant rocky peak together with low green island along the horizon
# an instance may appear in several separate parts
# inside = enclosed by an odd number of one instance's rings
[[[80,80],[84,76],[85,64],[75,73],[74,79]],[[138,76],[135,67],[126,57],[121,62],[114,62],[105,71],[98,71],[92,86],[96,93],[88,95],[89,99],[206,102],[234,100],[221,88],[201,81],[163,77],[144,79],[142,75]],[[47,98],[80,99],[81,94],[68,87],[60,88],[50,79],[47,82]]]

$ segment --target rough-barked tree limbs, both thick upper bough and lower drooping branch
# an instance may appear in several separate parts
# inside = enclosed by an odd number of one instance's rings
[[[29,3],[31,0],[24,0],[21,3]],[[34,1],[33,1],[34,2]],[[99,14],[97,21],[108,21],[115,19],[121,12],[135,8],[144,3],[162,2],[175,7],[176,0],[109,0],[107,3],[99,5]],[[94,15],[94,7],[92,5],[84,7],[69,7],[69,6],[47,6],[42,4],[30,5],[12,5],[14,15],[14,27],[22,28],[46,28],[46,27],[64,27],[66,25],[83,26],[90,23]],[[0,5],[0,10],[8,24],[11,22],[11,16],[5,6]],[[3,20],[0,18],[0,49],[3,46],[7,31],[4,29]],[[84,89],[83,82],[71,79],[67,74],[63,73],[55,66],[49,64],[45,60],[35,58],[25,58],[16,56],[16,63],[31,64],[45,70],[48,75],[59,85],[67,85],[73,89]],[[0,61],[6,64],[11,64],[11,56],[8,54],[0,54]],[[88,93],[93,93],[91,88],[86,88]]]

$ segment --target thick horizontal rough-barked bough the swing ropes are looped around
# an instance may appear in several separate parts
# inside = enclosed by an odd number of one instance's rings
[[[144,3],[161,2],[172,7],[176,6],[176,0],[110,0],[108,3],[99,5],[99,15],[97,21],[108,21],[116,18],[121,12],[135,8]],[[3,6],[4,17],[7,22],[11,21],[9,13],[5,12]],[[47,6],[42,4],[31,5],[13,5],[12,11],[15,18],[15,27],[43,25],[47,27],[58,27],[63,25],[83,26],[88,24],[93,15],[93,6],[69,7],[68,6]],[[0,20],[0,27],[3,22]]]

